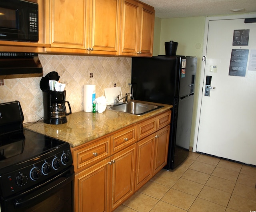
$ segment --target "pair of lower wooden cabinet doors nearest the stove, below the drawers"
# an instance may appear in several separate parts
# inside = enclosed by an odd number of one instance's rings
[[[75,175],[75,211],[112,211],[134,193],[136,145]]]

